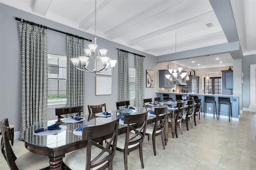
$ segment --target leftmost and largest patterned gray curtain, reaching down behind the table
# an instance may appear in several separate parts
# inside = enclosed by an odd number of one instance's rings
[[[20,138],[31,125],[47,120],[47,30],[19,23],[21,55]]]

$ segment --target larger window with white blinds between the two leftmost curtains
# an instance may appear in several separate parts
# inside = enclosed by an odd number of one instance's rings
[[[66,102],[66,56],[48,54],[48,103]]]

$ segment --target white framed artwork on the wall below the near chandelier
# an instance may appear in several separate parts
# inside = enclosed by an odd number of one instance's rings
[[[96,95],[112,94],[112,77],[96,76]]]

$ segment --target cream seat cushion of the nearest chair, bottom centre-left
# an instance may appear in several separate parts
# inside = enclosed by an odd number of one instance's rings
[[[102,151],[101,149],[92,145],[91,160],[94,159],[96,156],[98,156],[98,154],[101,151]],[[75,150],[74,152],[71,152],[70,154],[66,155],[63,158],[63,162],[64,162],[64,164],[66,164],[66,166],[68,166],[68,168],[70,168],[72,170],[85,170],[85,168],[86,168],[86,152],[87,152],[87,147]],[[108,152],[104,152],[104,154],[99,158],[99,160],[106,156],[108,156]],[[95,168],[92,168],[91,170],[98,169],[103,165],[104,164],[96,166]]]

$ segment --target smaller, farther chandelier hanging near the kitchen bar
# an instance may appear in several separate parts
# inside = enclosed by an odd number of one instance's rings
[[[176,54],[176,33],[175,33],[175,54]],[[186,75],[187,72],[185,71],[185,69],[182,71],[181,67],[177,67],[176,65],[176,60],[175,60],[175,67],[174,69],[169,69],[170,75],[165,75],[167,79],[169,79],[170,81],[173,80],[181,80],[184,79],[184,77],[186,77],[185,79],[188,81],[189,80],[189,76]]]

